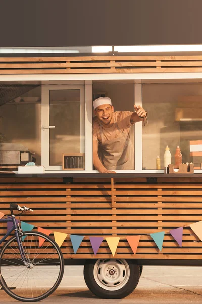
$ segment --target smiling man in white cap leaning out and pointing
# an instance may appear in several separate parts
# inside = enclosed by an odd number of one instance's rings
[[[136,105],[135,112],[114,112],[109,97],[95,99],[93,107],[93,165],[100,173],[134,170],[130,127],[136,122],[147,120],[147,112]]]

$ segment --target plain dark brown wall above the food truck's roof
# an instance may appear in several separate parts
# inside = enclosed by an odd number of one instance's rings
[[[0,47],[201,44],[201,0],[0,0]]]

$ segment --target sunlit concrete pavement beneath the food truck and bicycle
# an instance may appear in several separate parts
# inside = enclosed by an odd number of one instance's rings
[[[83,267],[67,266],[60,287],[44,303],[77,304],[201,304],[202,267],[144,267],[135,291],[125,299],[106,300],[94,296],[85,285]],[[0,303],[17,303],[3,290]]]

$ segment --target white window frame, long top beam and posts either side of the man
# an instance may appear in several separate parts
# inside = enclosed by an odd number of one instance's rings
[[[196,73],[117,73],[117,74],[19,74],[19,75],[0,75],[0,81],[85,81],[92,82],[93,80],[134,80],[135,81],[135,87],[138,84],[141,84],[141,80],[151,80],[151,79],[202,79],[202,72],[196,72]],[[138,82],[139,81],[139,82]],[[88,90],[87,90],[88,87]],[[135,97],[137,98],[135,102],[140,102],[140,86],[136,87],[137,90],[135,92]],[[85,92],[86,99],[86,109],[89,109],[92,111],[92,88],[90,86],[86,86],[85,91],[87,90],[87,93]],[[138,93],[139,92],[139,93]],[[86,95],[87,94],[87,95]],[[91,94],[91,97],[90,97]],[[137,101],[138,100],[138,101]],[[91,104],[90,104],[91,103]],[[91,109],[90,109],[91,107]],[[88,137],[85,139],[85,144],[88,150],[86,150],[86,163],[87,166],[85,167],[85,170],[83,171],[68,171],[69,173],[93,173],[98,171],[92,171],[92,122],[89,120],[88,126],[86,128],[85,125],[85,137]],[[135,143],[137,141],[137,136],[141,134],[141,138],[139,137],[138,145],[135,145],[135,170],[129,170],[129,171],[116,171],[119,173],[162,173],[163,170],[142,170],[142,132],[137,134],[138,128],[140,130],[140,127],[138,127],[139,123],[136,123],[135,126]],[[140,124],[139,124],[140,126]],[[141,148],[140,148],[141,147]],[[90,161],[91,160],[91,161]],[[85,164],[86,164],[85,163]],[[141,164],[141,168],[139,167],[138,163]],[[48,171],[47,173],[57,173],[57,171]],[[58,171],[59,173],[66,173],[67,171]],[[194,170],[195,173],[202,173],[202,170]]]

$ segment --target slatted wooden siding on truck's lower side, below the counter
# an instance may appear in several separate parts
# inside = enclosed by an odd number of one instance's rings
[[[89,236],[119,236],[114,258],[134,259],[144,264],[166,264],[166,260],[201,263],[202,242],[188,226],[202,220],[202,178],[193,181],[180,178],[157,178],[148,183],[141,178],[0,178],[0,212],[9,214],[9,204],[34,209],[21,220],[36,227],[64,232],[68,236],[61,249],[65,259],[113,258],[106,241],[97,255]],[[184,227],[182,247],[169,231]],[[36,228],[37,229],[37,228]],[[160,252],[150,233],[165,231]],[[6,232],[5,224],[0,234]],[[76,254],[70,234],[84,239]],[[141,235],[137,253],[133,254],[126,236]],[[171,261],[172,264],[172,261]]]

